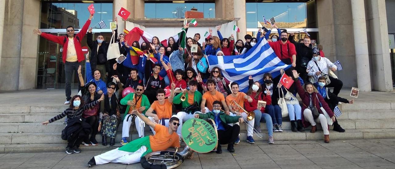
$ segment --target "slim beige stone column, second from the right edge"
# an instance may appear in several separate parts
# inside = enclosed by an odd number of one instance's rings
[[[357,85],[360,91],[370,92],[371,76],[366,33],[365,4],[363,0],[351,0],[352,25],[354,30],[355,64]]]

